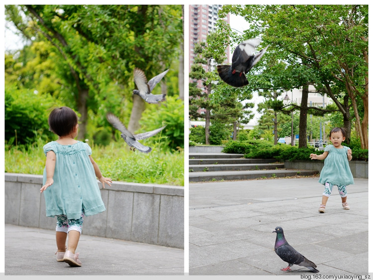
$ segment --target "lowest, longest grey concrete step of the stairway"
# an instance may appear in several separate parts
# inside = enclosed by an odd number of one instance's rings
[[[296,175],[311,176],[316,174],[318,174],[318,171],[295,169],[189,172],[189,182],[249,180],[258,178],[292,177]]]

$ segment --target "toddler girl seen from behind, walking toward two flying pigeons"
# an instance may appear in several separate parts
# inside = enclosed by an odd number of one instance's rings
[[[58,140],[44,145],[46,163],[43,186],[47,217],[57,216],[57,262],[82,266],[77,249],[83,217],[105,211],[97,180],[105,187],[111,179],[102,176],[87,143],[74,140],[78,135],[78,116],[68,107],[54,109],[48,119]],[[66,239],[69,236],[67,250]],[[65,252],[66,251],[66,252]]]

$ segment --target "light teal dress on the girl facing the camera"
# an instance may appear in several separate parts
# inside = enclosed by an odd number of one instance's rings
[[[349,147],[336,148],[333,145],[327,145],[325,151],[328,151],[328,156],[324,159],[324,167],[320,172],[319,182],[331,183],[337,186],[354,184],[354,177],[352,176],[349,161],[347,158],[347,151]]]

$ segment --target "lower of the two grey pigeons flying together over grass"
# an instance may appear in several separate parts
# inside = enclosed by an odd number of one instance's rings
[[[119,119],[116,116],[114,116],[113,114],[108,113],[106,115],[106,119],[114,127],[114,129],[117,129],[118,131],[120,131],[122,133],[120,135],[120,137],[123,138],[124,141],[126,141],[126,143],[130,146],[131,150],[132,150],[132,147],[133,147],[133,150],[135,150],[137,148],[139,151],[145,152],[145,153],[150,152],[152,150],[152,148],[141,144],[138,140],[146,139],[146,138],[149,138],[153,135],[156,135],[157,133],[159,133],[161,130],[163,130],[166,127],[166,126],[164,126],[162,128],[156,129],[154,131],[145,132],[145,133],[141,133],[141,134],[137,134],[137,135],[132,135],[132,133],[130,133],[126,129],[126,127],[119,121]]]

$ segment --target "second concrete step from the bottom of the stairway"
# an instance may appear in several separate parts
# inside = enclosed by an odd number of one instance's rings
[[[240,171],[240,170],[265,170],[281,169],[283,163],[257,163],[257,164],[189,164],[189,172],[210,171]]]

